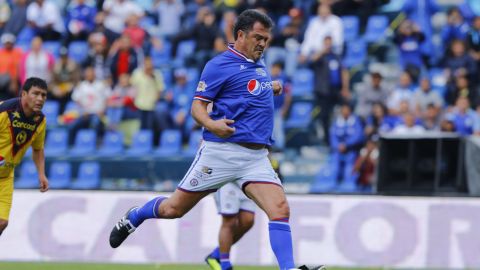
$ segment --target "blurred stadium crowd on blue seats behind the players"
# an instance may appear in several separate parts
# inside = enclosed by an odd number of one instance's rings
[[[387,2],[0,0],[0,100],[37,76],[58,106],[49,128],[67,128],[70,145],[86,128],[99,143],[120,130],[129,144],[145,129],[155,145],[167,129],[187,142],[200,70],[233,41],[237,14],[257,8],[276,22],[265,61],[285,87],[275,148],[285,128],[305,128],[330,146],[317,182],[368,189],[382,132],[480,135],[479,4],[405,0],[375,14]]]

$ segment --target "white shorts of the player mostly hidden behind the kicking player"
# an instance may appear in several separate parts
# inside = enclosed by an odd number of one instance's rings
[[[243,191],[234,183],[227,183],[215,193],[217,211],[222,216],[238,214],[241,207]]]

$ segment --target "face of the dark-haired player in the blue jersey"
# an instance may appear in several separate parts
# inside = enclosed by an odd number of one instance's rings
[[[245,55],[255,61],[260,59],[270,38],[270,29],[265,28],[260,22],[256,22],[252,30],[248,31],[244,36]]]

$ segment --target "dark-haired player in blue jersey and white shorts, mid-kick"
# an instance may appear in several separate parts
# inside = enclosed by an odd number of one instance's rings
[[[278,82],[271,81],[262,60],[272,27],[272,20],[256,10],[238,16],[235,42],[206,64],[195,92],[192,116],[204,128],[204,142],[190,169],[169,198],[159,196],[127,211],[110,234],[113,248],[144,220],[180,218],[209,193],[235,182],[267,214],[279,269],[309,269],[294,265],[290,208],[267,156],[267,146],[272,144],[273,95],[282,91]]]

